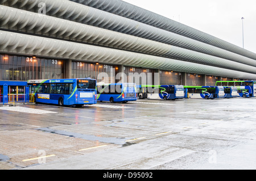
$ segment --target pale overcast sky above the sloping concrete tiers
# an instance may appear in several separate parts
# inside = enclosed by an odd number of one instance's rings
[[[256,53],[255,0],[123,0]]]

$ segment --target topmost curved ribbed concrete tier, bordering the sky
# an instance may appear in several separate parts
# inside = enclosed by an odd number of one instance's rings
[[[142,9],[141,7],[131,5],[130,3],[121,0],[70,0],[81,3],[86,6],[94,7],[96,9],[111,12],[113,14],[123,16],[125,18],[133,19],[141,23],[148,24],[166,31],[174,32],[182,36],[189,37],[194,40],[201,41],[219,47],[221,49],[229,50],[230,52],[241,54],[256,60],[256,54],[249,50],[243,49],[217,37],[208,35],[207,33],[188,27],[184,24],[178,23],[172,19],[156,14],[154,12]],[[159,5],[160,6],[160,5]]]

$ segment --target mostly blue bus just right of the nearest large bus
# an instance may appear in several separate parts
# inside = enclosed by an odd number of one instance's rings
[[[98,83],[97,100],[127,103],[137,100],[137,88],[135,83]]]

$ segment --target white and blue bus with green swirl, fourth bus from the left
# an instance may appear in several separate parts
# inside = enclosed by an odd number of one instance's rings
[[[223,86],[184,86],[185,98],[217,99],[224,98]]]

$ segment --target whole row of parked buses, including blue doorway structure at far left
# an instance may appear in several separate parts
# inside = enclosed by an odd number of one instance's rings
[[[15,86],[17,85],[17,86]],[[135,85],[97,83],[95,79],[47,79],[27,82],[0,81],[0,102],[23,101],[59,106],[100,102],[127,103],[139,99],[217,99],[256,96],[255,81],[218,81],[216,86]]]

